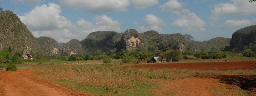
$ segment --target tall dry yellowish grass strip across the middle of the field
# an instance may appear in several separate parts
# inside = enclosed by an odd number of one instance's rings
[[[179,69],[134,69],[104,65],[54,65],[37,68],[35,74],[47,78],[74,80],[83,85],[114,89],[128,86],[131,81],[150,82],[151,79],[177,80],[187,76],[209,76],[222,74],[256,75],[256,70],[179,70]]]

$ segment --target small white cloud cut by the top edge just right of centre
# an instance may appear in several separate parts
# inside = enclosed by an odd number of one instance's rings
[[[158,0],[132,0],[135,9],[145,9],[158,3]]]

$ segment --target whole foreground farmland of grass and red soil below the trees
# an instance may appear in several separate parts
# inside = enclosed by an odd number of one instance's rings
[[[67,96],[256,95],[256,61],[202,60],[193,63],[180,61],[163,64],[98,62],[101,61],[85,64],[18,64],[18,71],[0,71],[0,77],[3,78],[0,80],[0,95],[12,95],[10,93],[14,90],[18,90],[15,93],[23,93],[24,96],[40,91],[45,93],[42,95]],[[12,76],[16,79],[11,79]],[[19,87],[12,87],[17,84]],[[27,85],[28,89],[23,88]],[[25,90],[31,92],[24,92]]]

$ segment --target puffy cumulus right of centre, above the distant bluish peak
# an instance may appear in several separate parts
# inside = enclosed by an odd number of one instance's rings
[[[195,13],[189,12],[187,9],[185,13],[175,12],[178,18],[172,23],[172,27],[182,28],[183,31],[187,32],[201,32],[206,31],[206,28],[203,28],[205,22],[201,20]]]

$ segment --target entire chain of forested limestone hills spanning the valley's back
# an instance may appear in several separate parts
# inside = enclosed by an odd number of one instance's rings
[[[166,51],[169,49],[186,49],[202,51],[218,51],[226,48],[256,48],[256,25],[237,30],[232,39],[216,37],[208,41],[197,42],[191,35],[180,33],[159,34],[150,30],[138,33],[128,29],[124,33],[114,31],[96,31],[84,40],[71,39],[67,43],[58,43],[50,37],[34,37],[28,28],[12,11],[0,11],[0,51],[9,49],[12,53],[20,53],[24,59],[32,59],[35,55],[44,56],[63,54],[90,54],[92,52],[119,52],[120,50]],[[230,44],[230,46],[229,46]],[[227,47],[229,46],[229,47]]]

